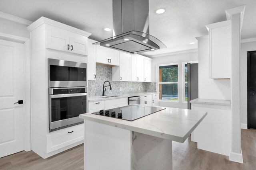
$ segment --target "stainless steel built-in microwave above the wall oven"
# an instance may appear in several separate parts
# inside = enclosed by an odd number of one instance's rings
[[[50,87],[86,87],[86,63],[48,59]]]

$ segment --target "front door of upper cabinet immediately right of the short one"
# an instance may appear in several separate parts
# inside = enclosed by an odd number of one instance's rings
[[[120,52],[120,81],[131,81],[131,55]]]

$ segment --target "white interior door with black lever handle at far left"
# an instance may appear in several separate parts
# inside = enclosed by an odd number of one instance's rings
[[[24,44],[0,39],[0,158],[24,150],[23,99]]]

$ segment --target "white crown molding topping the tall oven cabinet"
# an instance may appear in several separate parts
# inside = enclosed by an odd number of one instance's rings
[[[41,26],[42,24],[48,24],[48,25],[52,25],[54,27],[59,27],[61,29],[66,29],[68,31],[72,31],[74,33],[78,33],[80,35],[84,35],[86,37],[89,37],[90,35],[92,35],[91,33],[88,33],[86,31],[83,31],[81,29],[78,29],[78,28],[75,28],[75,27],[71,27],[69,25],[66,25],[64,23],[60,23],[58,21],[54,21],[54,20],[51,20],[49,18],[45,18],[45,17],[41,17],[39,18],[38,20],[34,21],[31,25],[29,25],[27,27],[28,31],[33,31],[34,29],[38,28],[39,26]]]

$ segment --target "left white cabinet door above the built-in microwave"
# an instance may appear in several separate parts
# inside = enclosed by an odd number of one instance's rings
[[[46,48],[70,51],[70,37],[63,30],[46,30]]]

